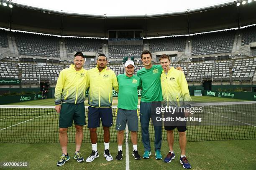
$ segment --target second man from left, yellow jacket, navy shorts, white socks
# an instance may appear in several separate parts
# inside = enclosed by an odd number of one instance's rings
[[[86,85],[90,86],[88,96],[88,128],[90,129],[90,138],[92,143],[92,153],[86,159],[86,162],[92,162],[99,157],[97,151],[97,127],[100,127],[100,120],[104,130],[103,152],[106,160],[111,161],[113,157],[109,152],[110,131],[113,125],[112,117],[112,89],[118,91],[118,81],[113,70],[107,70],[107,57],[100,54],[97,58],[97,67],[88,70]]]

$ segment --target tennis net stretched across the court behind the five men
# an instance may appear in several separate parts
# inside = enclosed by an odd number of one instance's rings
[[[202,112],[190,115],[196,121],[187,121],[187,141],[256,139],[256,102],[194,103]],[[0,143],[59,143],[59,114],[54,106],[0,105]],[[86,123],[88,107],[86,106]],[[113,106],[113,126],[110,142],[117,141],[116,110]],[[139,108],[138,108],[139,111]],[[199,121],[201,118],[201,121]],[[83,127],[84,143],[90,143],[90,131]],[[166,131],[162,126],[162,140]],[[176,131],[176,129],[174,130]],[[97,128],[98,143],[103,143],[103,129]],[[150,141],[154,141],[154,126],[149,124]],[[74,143],[75,127],[68,128],[69,143]],[[174,132],[174,139],[179,139]],[[130,134],[128,139],[131,142]],[[141,142],[139,123],[138,142]]]

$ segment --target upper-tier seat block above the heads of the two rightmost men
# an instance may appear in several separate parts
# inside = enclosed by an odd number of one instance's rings
[[[185,51],[187,37],[166,37],[148,39],[149,50],[157,51]]]

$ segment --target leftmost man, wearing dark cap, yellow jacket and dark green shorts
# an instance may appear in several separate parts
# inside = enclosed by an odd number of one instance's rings
[[[67,153],[67,129],[72,126],[73,120],[76,128],[76,150],[74,159],[83,162],[80,153],[83,139],[83,128],[85,125],[84,99],[86,90],[87,70],[84,70],[84,55],[77,52],[74,57],[74,65],[61,70],[55,87],[55,110],[59,115],[59,141],[62,155],[57,166],[62,166],[69,160]]]

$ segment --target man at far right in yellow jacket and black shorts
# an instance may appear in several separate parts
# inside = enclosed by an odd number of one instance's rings
[[[182,71],[176,70],[174,67],[170,67],[170,57],[169,55],[161,55],[159,58],[160,65],[163,68],[161,74],[161,87],[162,87],[162,95],[164,98],[164,102],[167,105],[176,106],[184,106],[191,101],[191,97],[189,95],[187,80]],[[176,115],[183,115],[184,112],[175,112]],[[173,143],[174,143],[174,133],[173,130],[177,128],[179,131],[179,146],[181,149],[181,156],[180,156],[180,163],[182,164],[183,168],[189,169],[191,165],[189,164],[185,151],[186,151],[186,125],[179,124],[168,124],[164,126],[164,129],[167,131],[167,141],[169,145],[169,153],[167,154],[164,162],[170,163],[174,158],[174,150],[173,150]]]

